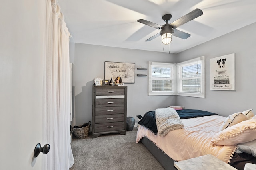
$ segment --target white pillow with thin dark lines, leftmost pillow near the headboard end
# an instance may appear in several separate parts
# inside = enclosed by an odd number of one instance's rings
[[[229,115],[224,122],[222,123],[221,127],[220,127],[220,131],[231,127],[237,123],[240,123],[241,121],[247,120],[248,118],[246,117],[246,115],[244,115],[241,112],[238,113],[234,113],[232,115]]]

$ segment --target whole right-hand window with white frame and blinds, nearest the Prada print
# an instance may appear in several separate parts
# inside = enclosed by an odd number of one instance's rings
[[[204,98],[204,56],[177,64],[177,95]]]

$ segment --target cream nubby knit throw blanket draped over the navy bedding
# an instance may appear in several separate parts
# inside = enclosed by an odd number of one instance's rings
[[[182,129],[184,124],[173,108],[156,109],[157,134],[165,136],[169,131]]]

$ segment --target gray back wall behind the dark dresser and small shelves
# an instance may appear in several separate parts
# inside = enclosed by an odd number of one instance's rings
[[[135,63],[135,74],[148,74],[137,70],[148,68],[148,61],[175,63],[176,54],[142,51],[75,43],[75,118],[72,124],[92,121],[92,84],[94,78],[104,79],[104,61]],[[175,96],[148,96],[148,77],[135,76],[128,86],[127,116],[134,118],[147,111],[175,104]]]

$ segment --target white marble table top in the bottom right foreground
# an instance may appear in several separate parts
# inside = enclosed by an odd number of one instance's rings
[[[175,162],[178,170],[236,170],[211,154]]]

